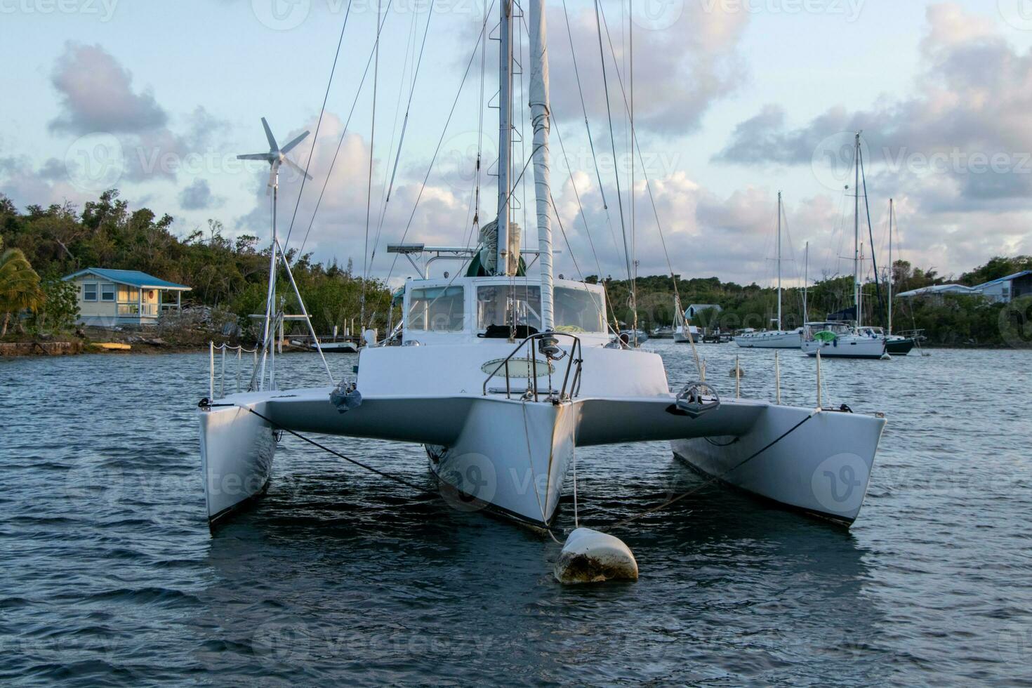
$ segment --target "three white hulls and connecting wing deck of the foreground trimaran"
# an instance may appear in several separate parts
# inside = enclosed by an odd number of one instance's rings
[[[867,490],[884,426],[875,417],[754,401],[724,401],[691,418],[669,393],[562,402],[469,394],[369,396],[341,414],[330,392],[239,394],[220,401],[233,405],[200,412],[213,522],[264,489],[272,429],[282,427],[424,444],[453,505],[487,507],[531,525],[551,523],[575,447],[647,440],[672,440],[678,456],[708,474],[849,523]]]

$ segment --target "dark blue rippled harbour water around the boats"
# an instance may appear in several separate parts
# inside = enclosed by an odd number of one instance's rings
[[[646,346],[695,378],[686,347]],[[741,355],[743,395],[772,397],[771,352],[700,351],[724,396]],[[812,405],[813,361],[781,362],[784,401]],[[618,533],[640,581],[571,588],[551,540],[291,437],[212,537],[206,354],[0,361],[0,682],[1028,685],[1030,364],[826,361],[836,404],[890,418],[851,530],[708,487]],[[321,384],[310,355],[281,370]],[[328,441],[432,487],[417,446]],[[578,466],[586,525],[701,480],[665,444]]]

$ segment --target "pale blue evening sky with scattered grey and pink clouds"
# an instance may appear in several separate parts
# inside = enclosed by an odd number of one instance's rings
[[[916,266],[959,275],[1032,254],[1029,0],[601,0],[598,19],[587,0],[546,6],[557,272],[625,276],[631,253],[641,275],[772,284],[782,192],[785,283],[802,282],[807,243],[811,281],[849,273],[858,130],[865,256],[886,263],[890,198],[894,257]],[[266,117],[281,143],[312,132],[291,157],[313,178],[281,178],[288,247],[396,283],[412,270],[388,242],[476,244],[478,187],[480,219],[495,216],[497,11],[0,0],[0,193],[82,207],[118,188],[178,234],[217,220],[267,241],[267,166],[235,159],[267,150]],[[516,174],[528,76],[515,77]],[[528,247],[533,194],[528,169],[513,194]]]

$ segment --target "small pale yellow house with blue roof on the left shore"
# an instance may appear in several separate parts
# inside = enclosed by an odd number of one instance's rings
[[[139,270],[110,270],[88,267],[65,277],[78,291],[78,323],[115,325],[157,325],[165,310],[183,307],[186,285],[160,280]],[[175,300],[169,302],[169,294]]]

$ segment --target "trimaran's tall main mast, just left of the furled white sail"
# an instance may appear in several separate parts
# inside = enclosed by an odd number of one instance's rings
[[[498,274],[515,274],[509,261],[509,207],[512,192],[513,0],[501,3],[498,22]],[[516,258],[517,263],[519,257]]]

